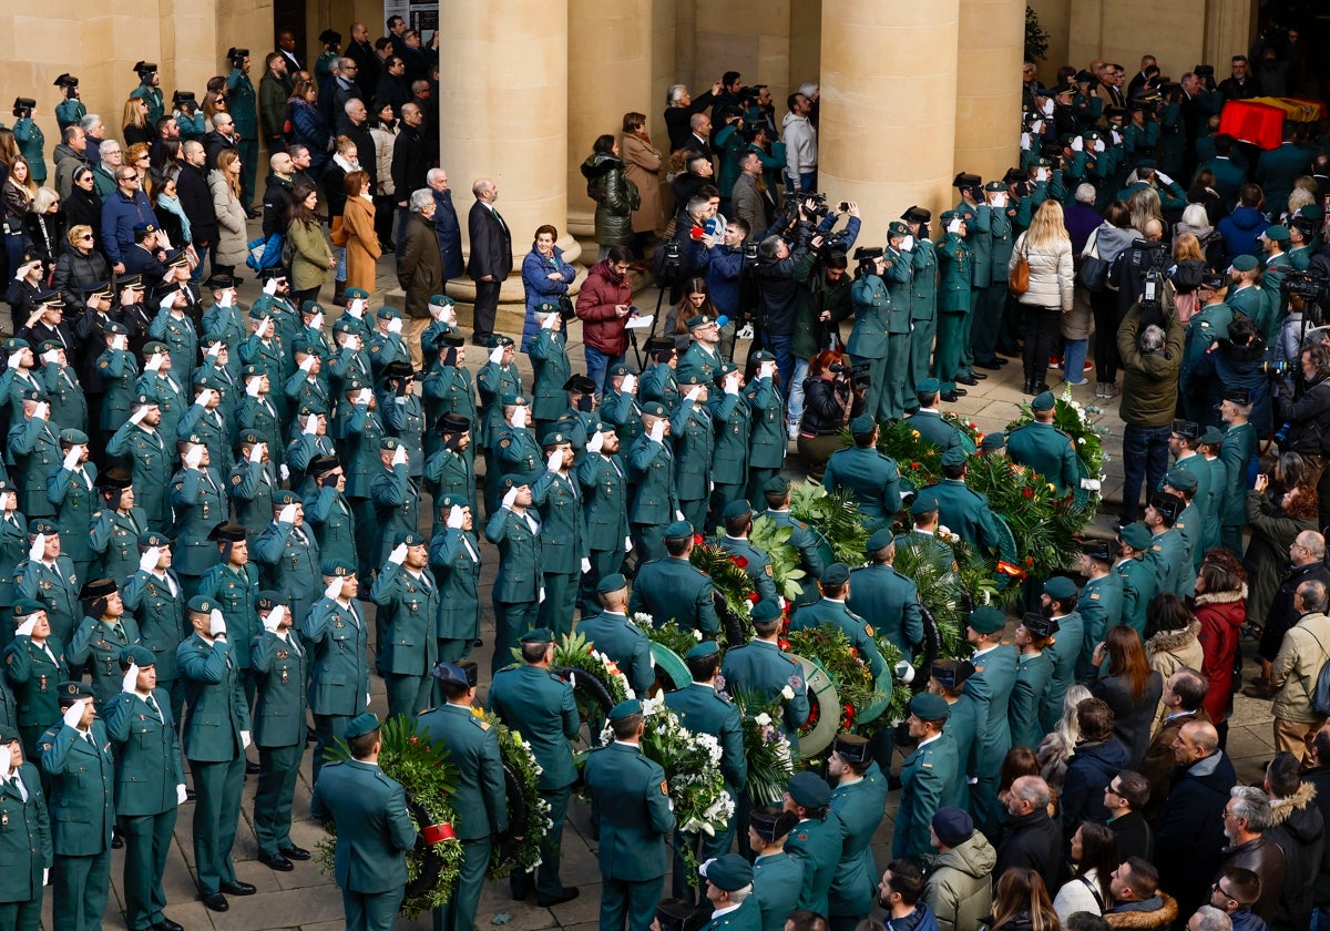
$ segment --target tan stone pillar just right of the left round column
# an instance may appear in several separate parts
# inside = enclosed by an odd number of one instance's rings
[[[652,112],[650,0],[568,0],[568,231],[595,247],[595,202],[581,164],[624,114]]]

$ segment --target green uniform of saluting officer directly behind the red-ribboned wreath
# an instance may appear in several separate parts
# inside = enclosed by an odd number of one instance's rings
[[[434,636],[439,585],[428,569],[411,572],[388,561],[370,589],[380,629],[379,674],[387,685],[388,717],[415,717],[434,702],[430,670],[439,661]]]

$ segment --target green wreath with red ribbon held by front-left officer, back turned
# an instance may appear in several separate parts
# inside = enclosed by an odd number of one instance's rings
[[[402,783],[411,823],[422,833],[407,853],[407,891],[400,908],[406,918],[415,918],[447,903],[462,871],[462,842],[452,830],[458,815],[451,802],[458,790],[458,770],[448,749],[431,743],[420,732],[418,718],[388,718],[380,735],[379,766]],[[326,755],[330,762],[351,759],[351,747],[338,738]],[[435,829],[430,831],[438,838],[434,842],[424,837],[427,827]],[[334,868],[336,826],[330,823],[329,833],[331,837],[321,841],[315,851],[319,871],[325,874]]]

